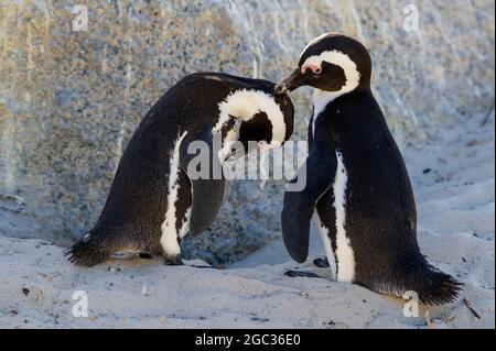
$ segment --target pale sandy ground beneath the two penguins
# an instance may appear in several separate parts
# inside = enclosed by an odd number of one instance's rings
[[[88,270],[50,243],[0,237],[0,328],[494,328],[494,113],[482,120],[405,152],[423,253],[466,284],[452,305],[407,318],[400,299],[287,277],[298,265],[280,241],[224,271],[145,260]],[[323,252],[315,233],[311,252]],[[78,290],[87,294],[87,318],[73,316]]]

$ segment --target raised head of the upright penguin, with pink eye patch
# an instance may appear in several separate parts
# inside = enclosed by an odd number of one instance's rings
[[[276,94],[311,86],[338,97],[369,88],[370,75],[370,55],[360,42],[346,35],[326,33],[306,45],[298,68],[276,87]]]

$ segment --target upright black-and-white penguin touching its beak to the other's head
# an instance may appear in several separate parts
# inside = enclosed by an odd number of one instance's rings
[[[306,260],[316,211],[338,282],[395,296],[413,290],[425,304],[453,301],[462,284],[420,253],[410,179],[370,76],[366,47],[327,33],[304,48],[298,69],[276,88],[281,95],[315,88],[306,187],[284,195],[284,244],[295,261]]]

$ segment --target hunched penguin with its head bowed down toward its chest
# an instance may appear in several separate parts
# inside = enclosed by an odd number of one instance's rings
[[[231,146],[254,141],[267,150],[291,136],[293,105],[273,90],[270,81],[215,73],[170,88],[136,130],[97,223],[67,250],[69,261],[93,266],[132,252],[181,264],[181,239],[206,230],[219,210]],[[188,167],[198,141],[212,151],[203,176]]]

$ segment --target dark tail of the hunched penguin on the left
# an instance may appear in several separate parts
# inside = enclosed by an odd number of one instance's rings
[[[86,234],[71,249],[64,251],[64,255],[75,265],[91,267],[110,259],[114,252],[109,249],[105,237]]]

